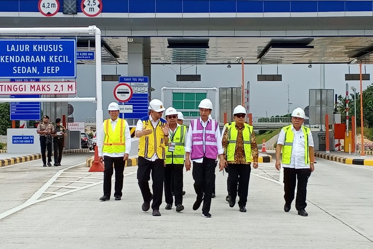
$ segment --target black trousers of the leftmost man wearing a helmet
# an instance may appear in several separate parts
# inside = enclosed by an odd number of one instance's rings
[[[115,192],[114,196],[122,197],[123,189],[123,171],[125,161],[123,157],[112,158],[110,156],[104,156],[104,196],[110,197],[112,192],[112,176],[113,176],[113,164],[115,168]]]

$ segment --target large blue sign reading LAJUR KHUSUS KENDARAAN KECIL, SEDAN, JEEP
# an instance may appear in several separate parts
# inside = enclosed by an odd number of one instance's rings
[[[0,78],[76,78],[73,39],[1,39]]]

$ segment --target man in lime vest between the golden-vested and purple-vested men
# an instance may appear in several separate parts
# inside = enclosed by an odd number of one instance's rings
[[[169,143],[166,144],[166,167],[164,168],[164,199],[166,200],[166,209],[170,210],[173,204],[172,185],[175,189],[176,212],[184,210],[183,203],[183,168],[184,168],[184,143],[186,126],[179,125],[176,120],[178,113],[173,107],[166,109],[164,115],[169,124]],[[173,181],[171,178],[173,176]]]

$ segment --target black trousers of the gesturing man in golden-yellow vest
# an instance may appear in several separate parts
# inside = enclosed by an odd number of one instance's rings
[[[151,208],[153,210],[159,210],[159,206],[162,204],[163,196],[164,160],[157,159],[156,161],[152,162],[139,156],[137,180],[144,202],[151,198],[149,188],[150,172],[151,179],[153,180],[153,203],[151,204]]]

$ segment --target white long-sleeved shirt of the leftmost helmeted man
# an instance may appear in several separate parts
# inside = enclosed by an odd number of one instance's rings
[[[115,130],[115,127],[118,123],[118,119],[115,119],[115,121],[113,121],[113,119],[110,119],[110,125],[113,129],[113,131]],[[110,156],[110,157],[122,157],[124,156],[124,154],[128,154],[129,155],[129,152],[131,151],[131,133],[129,132],[129,126],[128,126],[128,123],[127,121],[125,121],[125,128],[124,128],[124,136],[126,138],[126,151],[123,152],[123,153],[106,153],[106,152],[102,152],[103,150],[103,147],[104,147],[104,138],[105,138],[105,133],[104,133],[104,123],[102,124],[101,126],[101,130],[100,130],[100,136],[97,138],[97,146],[98,146],[98,156]]]

